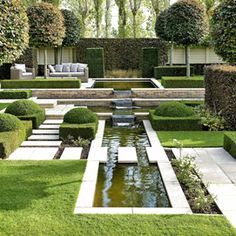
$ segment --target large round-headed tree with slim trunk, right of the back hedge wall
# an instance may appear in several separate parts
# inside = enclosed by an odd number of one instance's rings
[[[206,36],[207,23],[203,4],[197,0],[180,0],[167,13],[166,33],[186,50],[187,76],[190,76],[189,46],[200,43]]]

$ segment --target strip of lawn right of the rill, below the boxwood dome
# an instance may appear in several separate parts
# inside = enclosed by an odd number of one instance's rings
[[[221,147],[224,131],[158,131],[157,135],[165,147],[175,147],[173,139],[184,147]]]

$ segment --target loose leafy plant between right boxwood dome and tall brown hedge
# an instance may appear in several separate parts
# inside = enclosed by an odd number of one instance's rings
[[[221,112],[214,113],[205,106],[198,106],[195,111],[201,117],[201,124],[210,131],[220,131],[225,129],[225,119],[221,116]]]

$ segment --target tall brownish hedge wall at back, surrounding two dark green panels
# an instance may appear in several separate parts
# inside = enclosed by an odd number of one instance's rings
[[[167,61],[167,44],[157,38],[141,39],[80,39],[77,45],[77,61],[86,63],[87,48],[103,48],[106,70],[138,69],[141,65],[142,48],[157,47],[160,53],[160,62]]]

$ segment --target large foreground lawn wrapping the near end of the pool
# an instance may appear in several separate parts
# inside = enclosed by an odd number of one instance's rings
[[[84,161],[0,161],[0,235],[236,235],[222,216],[73,215]]]

